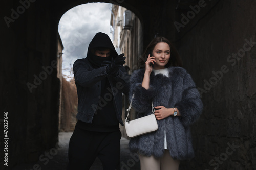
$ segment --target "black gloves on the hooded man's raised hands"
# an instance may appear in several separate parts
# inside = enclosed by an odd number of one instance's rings
[[[106,73],[108,73],[109,75],[117,76],[119,72],[118,67],[122,66],[125,63],[124,60],[126,57],[123,56],[124,54],[120,54],[115,59],[113,59],[111,63],[106,66]]]

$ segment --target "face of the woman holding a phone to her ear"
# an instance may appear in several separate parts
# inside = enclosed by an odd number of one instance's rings
[[[156,63],[154,69],[163,69],[170,59],[170,47],[166,42],[159,42],[152,51]]]

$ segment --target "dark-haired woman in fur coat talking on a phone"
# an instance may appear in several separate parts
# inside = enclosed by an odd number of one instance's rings
[[[152,113],[153,101],[158,130],[132,138],[129,147],[139,153],[142,170],[178,170],[180,160],[194,156],[189,126],[202,112],[200,94],[166,38],[153,39],[143,57],[145,68],[131,76],[129,96],[138,118]]]

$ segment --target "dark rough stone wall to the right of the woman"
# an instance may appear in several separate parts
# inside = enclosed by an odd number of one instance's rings
[[[207,12],[201,8],[176,35],[204,103],[192,126],[196,157],[181,167],[255,169],[256,2],[216,2],[205,1]]]

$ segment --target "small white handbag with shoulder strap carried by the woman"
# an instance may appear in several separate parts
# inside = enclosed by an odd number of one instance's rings
[[[134,98],[134,94],[133,97],[131,99],[131,103],[129,108],[127,109],[127,117],[125,119],[124,122],[124,126],[125,126],[125,130],[126,130],[126,134],[127,136],[133,138],[139,135],[143,135],[146,133],[150,133],[150,132],[154,132],[158,129],[158,125],[157,125],[157,120],[155,117],[155,108],[153,106],[153,102],[151,102],[151,110],[152,110],[152,114],[148,115],[148,116],[144,116],[135,120],[127,120],[128,116],[129,116],[129,112],[132,108],[132,102],[133,102],[133,98]]]

